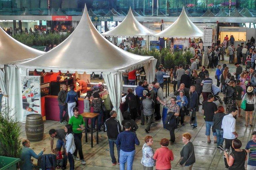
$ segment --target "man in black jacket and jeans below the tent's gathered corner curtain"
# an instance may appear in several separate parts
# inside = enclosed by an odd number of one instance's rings
[[[112,165],[117,164],[117,160],[114,153],[114,145],[116,143],[117,135],[122,132],[121,125],[119,121],[116,119],[117,112],[112,110],[110,112],[110,118],[105,121],[105,127],[108,136],[108,143],[110,149],[110,156],[112,159]],[[117,146],[117,155],[118,155],[118,162],[119,162],[119,155],[120,155],[120,147]]]

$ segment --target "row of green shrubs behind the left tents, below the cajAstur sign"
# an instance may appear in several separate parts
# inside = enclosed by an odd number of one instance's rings
[[[69,35],[70,33],[67,33],[66,35],[61,35],[58,33],[49,33],[42,35],[38,33],[21,33],[13,35],[13,38],[28,46],[46,46],[46,44],[58,45],[59,43],[64,41]]]

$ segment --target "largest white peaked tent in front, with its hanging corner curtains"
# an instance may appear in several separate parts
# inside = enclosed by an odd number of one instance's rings
[[[122,95],[122,72],[144,66],[149,82],[155,78],[156,59],[126,52],[97,31],[90,20],[85,5],[83,15],[74,32],[51,51],[32,60],[17,63],[21,69],[44,69],[46,72],[67,72],[96,74],[103,72],[110,99],[121,122],[119,109]]]

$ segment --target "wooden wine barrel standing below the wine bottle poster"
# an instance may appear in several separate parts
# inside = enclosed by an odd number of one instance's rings
[[[43,140],[44,122],[41,114],[27,115],[25,130],[29,141],[36,142]]]

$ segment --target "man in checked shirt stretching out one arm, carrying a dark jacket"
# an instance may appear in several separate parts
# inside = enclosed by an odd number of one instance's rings
[[[169,105],[166,105],[165,102],[163,102],[162,100],[160,100],[157,97],[157,100],[164,106],[168,107],[167,113],[169,112],[174,112],[174,116],[179,116],[180,115],[180,106],[176,103],[177,98],[176,97],[172,97],[171,98],[171,103]],[[170,131],[170,145],[174,144],[175,141],[175,133],[174,133],[175,127],[169,128]]]

